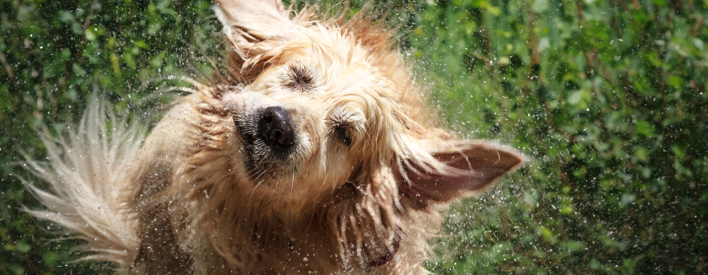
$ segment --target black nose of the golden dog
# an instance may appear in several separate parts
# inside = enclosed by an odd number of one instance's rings
[[[285,149],[295,141],[295,131],[290,124],[290,116],[281,107],[272,106],[263,110],[258,119],[258,134],[271,148]]]

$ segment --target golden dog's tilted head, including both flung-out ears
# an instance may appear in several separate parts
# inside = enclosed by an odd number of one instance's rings
[[[382,185],[424,207],[523,163],[503,146],[430,126],[390,34],[362,16],[290,18],[278,0],[221,0],[215,11],[239,84],[217,88],[211,107],[232,124],[223,133],[229,171],[251,197],[317,203],[387,168],[392,182]]]

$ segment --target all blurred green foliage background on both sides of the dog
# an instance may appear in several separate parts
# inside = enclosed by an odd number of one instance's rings
[[[66,3],[64,3],[66,2]],[[16,179],[92,93],[134,119],[222,63],[210,1],[0,0],[0,273],[100,274]],[[353,6],[356,5],[354,3]],[[708,1],[391,4],[431,106],[532,161],[454,204],[438,274],[708,272]],[[150,110],[149,112],[147,110]]]

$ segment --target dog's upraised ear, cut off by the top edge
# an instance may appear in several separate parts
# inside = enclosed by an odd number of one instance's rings
[[[272,58],[265,55],[302,28],[290,20],[281,0],[216,0],[214,10],[232,45],[229,67],[239,81],[257,76]]]

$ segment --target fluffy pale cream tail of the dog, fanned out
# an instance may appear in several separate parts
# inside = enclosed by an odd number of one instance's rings
[[[56,223],[69,238],[85,240],[81,259],[116,262],[127,267],[139,248],[136,213],[125,198],[135,184],[130,167],[144,138],[144,131],[115,118],[98,99],[91,100],[77,127],[67,127],[53,138],[40,134],[47,160],[25,154],[23,167],[43,182],[53,194],[21,178],[28,191],[47,210],[23,210]]]

